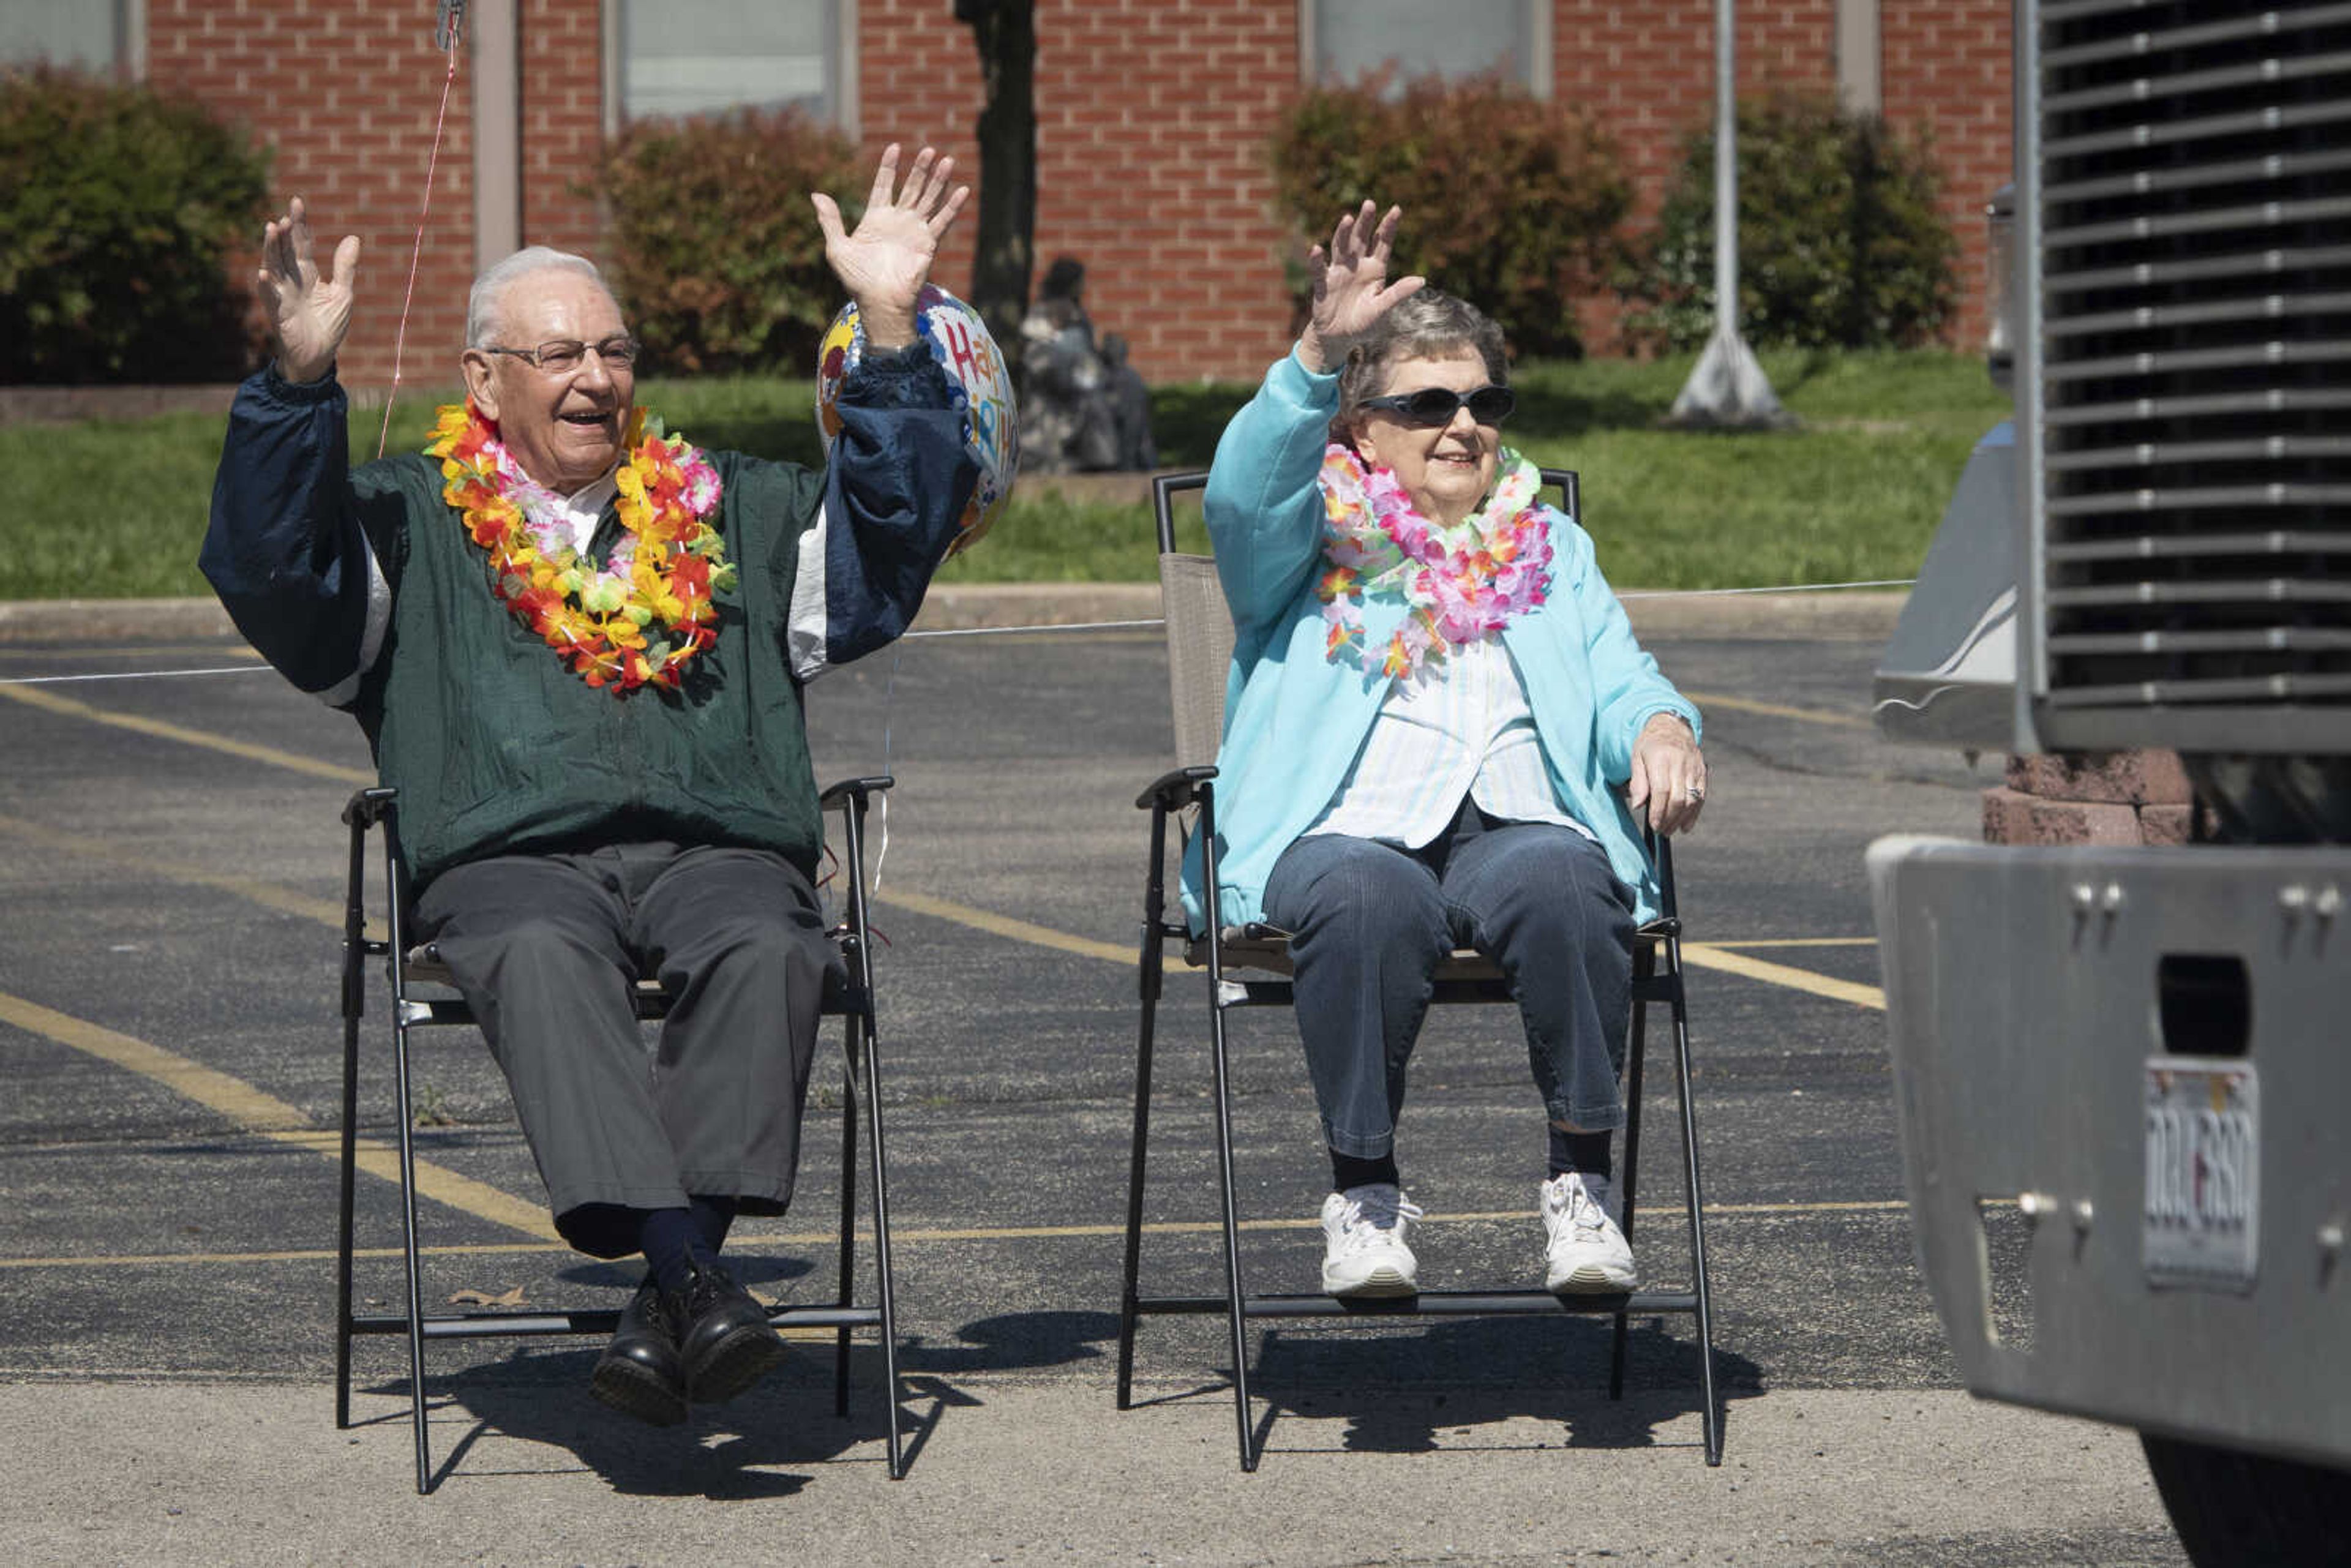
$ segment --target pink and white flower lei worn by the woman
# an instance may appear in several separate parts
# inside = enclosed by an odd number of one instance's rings
[[[1476,517],[1429,522],[1387,468],[1364,468],[1347,447],[1324,451],[1324,559],[1314,583],[1328,637],[1324,654],[1371,670],[1364,599],[1404,602],[1411,614],[1380,651],[1380,675],[1418,677],[1462,646],[1542,604],[1552,585],[1552,529],[1535,491],[1542,475],[1502,449],[1502,482]]]

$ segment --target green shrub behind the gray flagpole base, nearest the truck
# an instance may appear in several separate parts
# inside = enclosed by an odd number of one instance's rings
[[[1951,320],[1958,242],[1925,129],[1831,99],[1740,106],[1740,336],[1759,348],[1918,348]],[[1683,139],[1657,230],[1620,273],[1625,331],[1697,348],[1714,331],[1714,129]]]

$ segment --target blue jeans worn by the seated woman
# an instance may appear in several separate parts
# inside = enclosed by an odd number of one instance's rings
[[[1465,802],[1418,851],[1305,837],[1274,863],[1265,917],[1291,933],[1307,1077],[1340,1154],[1394,1150],[1406,1063],[1453,947],[1476,947],[1509,980],[1552,1121],[1625,1126],[1632,891],[1573,827],[1502,823]]]

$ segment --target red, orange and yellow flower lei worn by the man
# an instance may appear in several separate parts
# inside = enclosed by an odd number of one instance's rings
[[[489,588],[515,618],[590,686],[675,689],[686,661],[719,637],[712,595],[736,585],[710,527],[719,475],[682,435],[647,435],[644,409],[630,411],[623,449],[623,536],[597,567],[574,550],[562,498],[522,473],[470,400],[444,404],[426,444],[449,480],[442,498],[489,550]]]

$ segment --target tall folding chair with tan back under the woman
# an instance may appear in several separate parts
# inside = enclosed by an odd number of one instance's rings
[[[1700,1396],[1707,1465],[1723,1462],[1721,1410],[1714,1396],[1714,1314],[1707,1288],[1707,1241],[1697,1178],[1697,1124],[1690,1112],[1690,1030],[1681,987],[1681,917],[1674,900],[1674,853],[1650,835],[1650,858],[1662,886],[1662,917],[1639,929],[1634,940],[1632,1034],[1625,1063],[1625,1152],[1617,1175],[1622,1229],[1634,1234],[1634,1194],[1641,1159],[1641,1070],[1648,1044],[1648,1006],[1665,1004],[1674,1018],[1674,1088],[1681,1100],[1683,1192],[1690,1234],[1690,1286],[1683,1291],[1632,1291],[1613,1295],[1552,1295],[1521,1291],[1420,1291],[1385,1300],[1333,1295],[1267,1295],[1241,1284],[1241,1234],[1232,1175],[1232,1091],[1225,1051],[1225,1009],[1291,1006],[1288,936],[1272,926],[1227,926],[1218,940],[1194,938],[1180,919],[1166,919],[1168,820],[1194,813],[1190,832],[1201,839],[1204,900],[1218,907],[1215,867],[1215,750],[1223,736],[1225,672],[1232,661],[1232,616],[1206,555],[1176,552],[1178,491],[1199,489],[1206,473],[1173,473],[1152,480],[1152,512],[1159,524],[1159,590],[1166,614],[1168,686],[1176,705],[1176,762],[1136,806],[1152,813],[1150,875],[1143,886],[1140,994],[1143,1027],[1136,1046],[1136,1128],[1126,1185],[1126,1272],[1119,1295],[1119,1408],[1133,1403],[1136,1328],[1159,1314],[1225,1314],[1232,1326],[1232,1408],[1241,1436],[1241,1469],[1258,1467],[1248,1420],[1248,1324],[1255,1319],[1347,1316],[1467,1316],[1467,1314],[1610,1314],[1615,1333],[1608,1359],[1608,1396],[1625,1396],[1627,1324],[1634,1314],[1686,1312],[1697,1319]],[[1566,510],[1580,517],[1573,470],[1547,468],[1542,482],[1566,491]],[[1178,849],[1187,832],[1178,825]],[[1225,1293],[1143,1295],[1143,1175],[1150,1147],[1152,1037],[1168,945],[1178,945],[1192,969],[1208,971],[1208,1058],[1215,1074],[1215,1159],[1223,1197]],[[1230,978],[1230,971],[1270,978]],[[1474,950],[1458,950],[1439,964],[1434,1001],[1509,1001],[1502,971]]]

